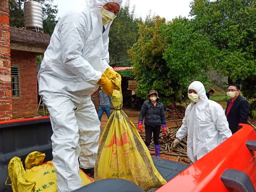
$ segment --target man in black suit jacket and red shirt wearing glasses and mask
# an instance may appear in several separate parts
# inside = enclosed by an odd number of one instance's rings
[[[240,92],[238,84],[230,84],[228,86],[227,95],[231,99],[227,102],[225,114],[232,134],[241,129],[238,126],[239,123],[247,124],[249,116],[249,102],[239,95]]]

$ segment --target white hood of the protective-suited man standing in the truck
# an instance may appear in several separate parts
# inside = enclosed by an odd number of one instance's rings
[[[101,8],[110,2],[117,3],[121,9],[123,0],[87,0],[87,6],[91,12],[98,14],[100,13]]]

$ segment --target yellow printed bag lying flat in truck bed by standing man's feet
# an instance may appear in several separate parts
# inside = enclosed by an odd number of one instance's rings
[[[57,192],[56,170],[52,161],[42,164],[45,154],[34,151],[28,154],[23,168],[20,158],[12,158],[9,166],[9,176],[14,192]],[[94,181],[80,170],[82,185],[85,186]]]

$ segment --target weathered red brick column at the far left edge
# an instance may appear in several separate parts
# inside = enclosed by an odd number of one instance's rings
[[[8,0],[0,0],[0,121],[12,119],[9,22]]]

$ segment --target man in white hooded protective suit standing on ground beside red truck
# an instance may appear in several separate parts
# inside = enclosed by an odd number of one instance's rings
[[[201,82],[194,81],[190,84],[188,98],[192,103],[186,109],[183,124],[171,148],[175,150],[187,136],[187,156],[194,163],[228,139],[232,133],[222,106],[208,100]]]

